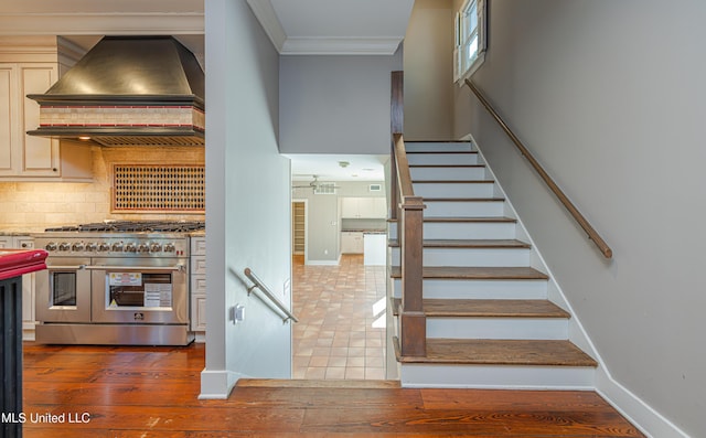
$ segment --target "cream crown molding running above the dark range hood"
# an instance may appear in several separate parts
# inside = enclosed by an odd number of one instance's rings
[[[0,35],[183,35],[203,33],[203,12],[52,12],[0,15]]]

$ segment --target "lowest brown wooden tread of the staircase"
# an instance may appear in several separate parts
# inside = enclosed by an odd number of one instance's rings
[[[402,363],[590,366],[597,362],[570,341],[556,340],[491,340],[491,339],[427,339],[426,357],[400,356],[396,340],[397,360]]]

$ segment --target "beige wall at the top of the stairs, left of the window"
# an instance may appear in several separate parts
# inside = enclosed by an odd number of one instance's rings
[[[451,0],[416,0],[405,35],[405,138],[449,140],[453,133]]]

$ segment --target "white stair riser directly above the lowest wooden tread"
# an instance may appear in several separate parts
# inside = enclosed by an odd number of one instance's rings
[[[430,318],[427,338],[447,339],[568,339],[561,318]]]

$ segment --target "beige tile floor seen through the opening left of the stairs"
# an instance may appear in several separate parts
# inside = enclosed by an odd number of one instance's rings
[[[292,260],[292,377],[385,378],[385,267],[343,255],[339,266]]]

